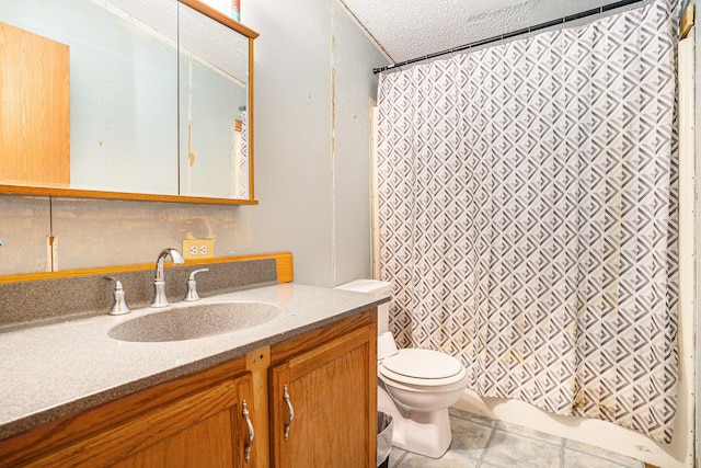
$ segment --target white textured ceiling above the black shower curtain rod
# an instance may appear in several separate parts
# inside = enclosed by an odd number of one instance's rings
[[[394,62],[518,31],[612,2],[612,0],[340,1]]]

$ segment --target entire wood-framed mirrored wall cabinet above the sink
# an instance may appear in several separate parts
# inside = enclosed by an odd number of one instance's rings
[[[197,0],[0,0],[0,193],[255,204],[253,39]]]

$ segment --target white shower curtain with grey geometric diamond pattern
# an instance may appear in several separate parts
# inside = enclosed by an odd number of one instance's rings
[[[380,77],[390,326],[470,388],[669,442],[676,2]]]

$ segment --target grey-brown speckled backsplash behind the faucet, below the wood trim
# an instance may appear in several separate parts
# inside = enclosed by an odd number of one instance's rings
[[[200,297],[230,293],[277,282],[275,259],[257,259],[207,265],[165,269],[165,294],[171,303],[183,300],[189,273],[199,269]],[[153,297],[153,270],[120,272],[111,276],[124,286],[129,308],[147,307]],[[0,332],[107,313],[113,304],[114,282],[105,275],[0,284]]]

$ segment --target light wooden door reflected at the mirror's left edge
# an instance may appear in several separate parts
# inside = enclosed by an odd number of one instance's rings
[[[70,70],[65,44],[0,23],[0,182],[70,183]]]

